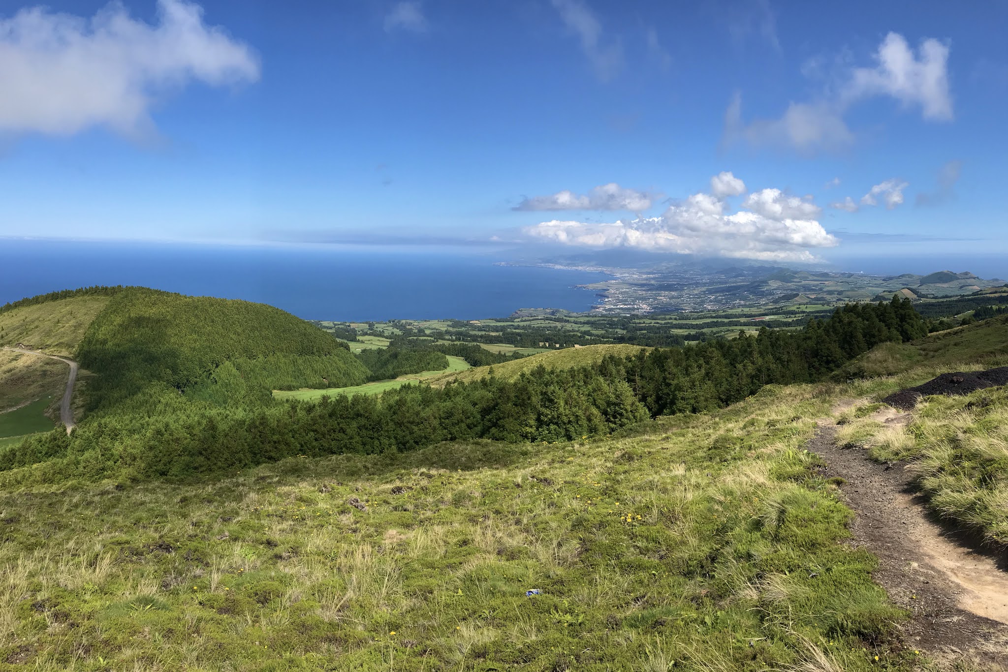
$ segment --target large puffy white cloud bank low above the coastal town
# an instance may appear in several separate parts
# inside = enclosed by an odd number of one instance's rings
[[[695,193],[670,206],[660,217],[603,224],[552,220],[526,227],[524,232],[538,240],[580,247],[628,247],[766,261],[814,261],[811,249],[839,244],[818,222],[808,219],[818,209],[807,198],[787,196],[778,189],[763,189],[753,195],[759,196],[752,200],[758,210],[728,214],[723,196]]]

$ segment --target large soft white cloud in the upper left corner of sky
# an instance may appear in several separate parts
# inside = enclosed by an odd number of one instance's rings
[[[0,19],[0,131],[72,135],[107,126],[136,136],[150,108],[191,81],[254,82],[259,61],[244,43],[203,21],[184,0],[158,0],[158,22],[118,2],[82,18],[43,7]]]

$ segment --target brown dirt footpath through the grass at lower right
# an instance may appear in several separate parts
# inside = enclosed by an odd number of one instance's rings
[[[889,409],[886,409],[889,410]],[[880,413],[885,422],[906,414]],[[890,598],[912,613],[905,644],[938,659],[960,656],[1008,665],[1008,561],[978,549],[936,522],[900,464],[880,464],[859,448],[836,444],[833,419],[820,422],[808,449],[841,477],[857,513],[854,543],[879,558],[873,573]]]

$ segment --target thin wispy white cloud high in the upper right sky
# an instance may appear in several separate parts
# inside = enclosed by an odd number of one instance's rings
[[[874,54],[875,64],[843,68],[817,97],[790,102],[775,119],[744,122],[742,99],[735,94],[725,114],[725,141],[771,146],[801,154],[837,151],[854,142],[844,117],[854,105],[879,96],[899,101],[905,108],[919,108],[929,121],[951,121],[953,100],[949,86],[949,46],[933,38],[914,50],[899,33],[890,32]],[[806,63],[811,76],[818,68]]]

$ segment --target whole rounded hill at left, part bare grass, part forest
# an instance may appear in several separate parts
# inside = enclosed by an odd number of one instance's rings
[[[85,306],[87,319],[81,316]],[[205,460],[201,453],[215,440],[199,434],[213,433],[217,422],[240,426],[249,409],[271,403],[272,389],[359,385],[370,373],[331,334],[247,301],[138,287],[91,288],[4,306],[0,319],[8,339],[32,337],[26,345],[59,347],[86,370],[75,406],[83,405],[87,413],[73,436],[28,434],[52,427],[38,403],[0,414],[0,437],[6,439],[0,462],[5,468],[48,462],[35,475],[40,481],[94,475],[96,464],[112,455],[121,458],[120,466],[146,464],[163,452],[153,447],[154,437],[174,445],[196,441],[193,459]],[[66,370],[65,364],[0,352],[0,403],[11,407],[42,398],[51,399],[43,406],[57,403],[66,378],[56,369]],[[26,435],[11,438],[19,430]],[[146,447],[139,446],[141,440]],[[60,461],[75,446],[86,446],[80,450],[86,456]],[[58,478],[52,464],[61,464]]]

